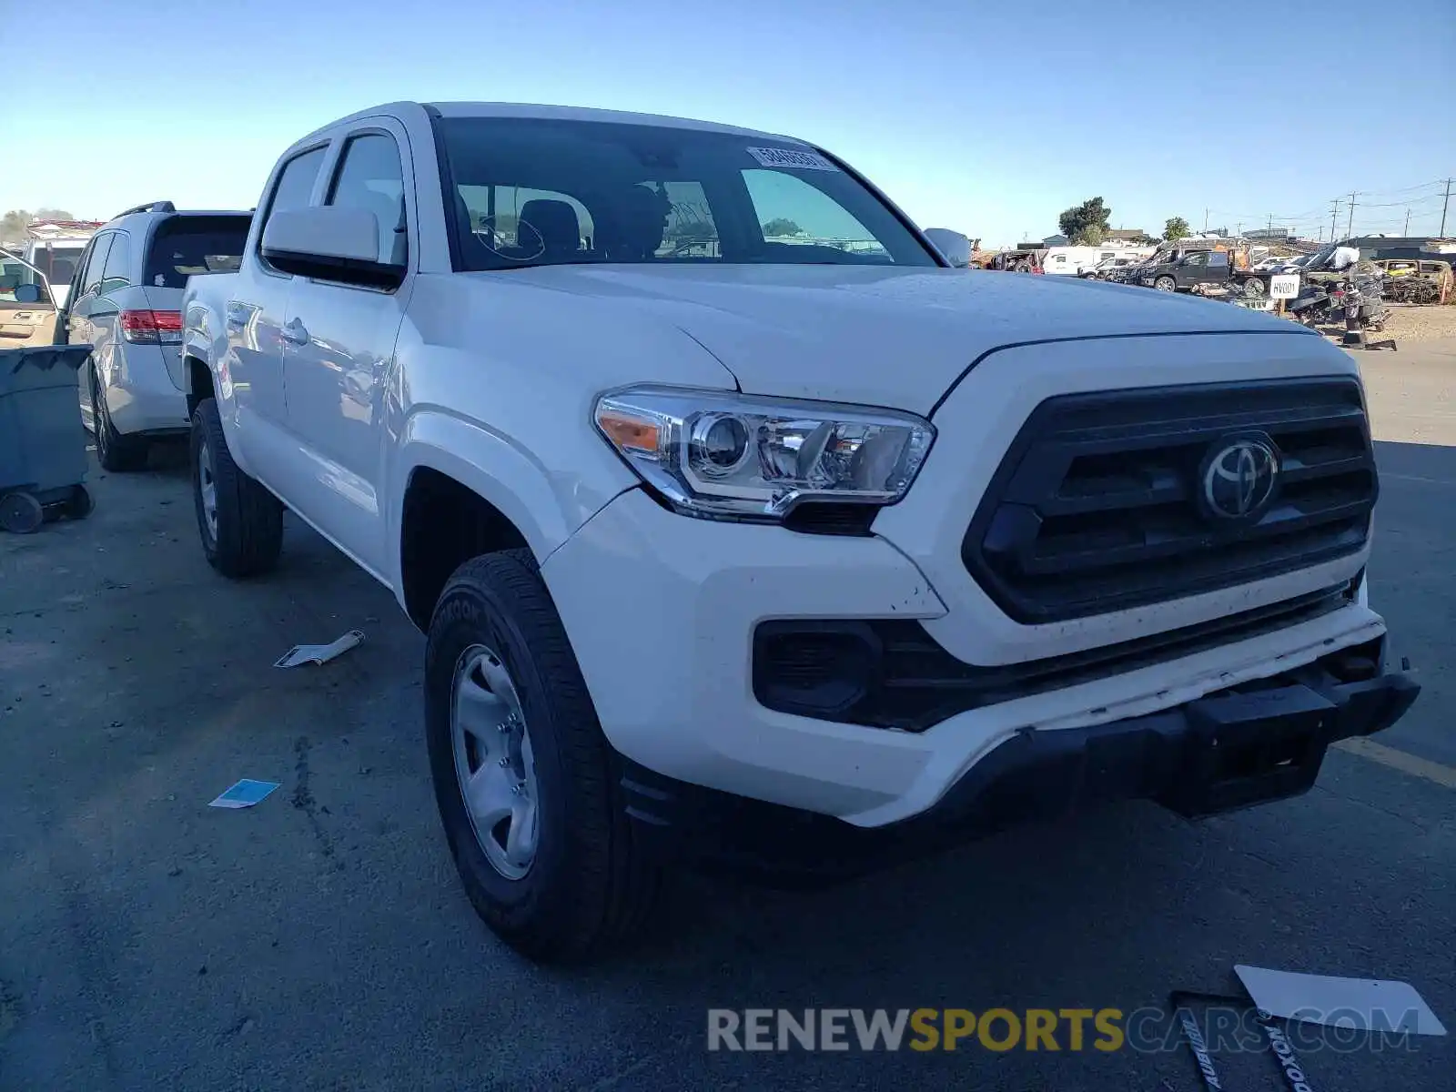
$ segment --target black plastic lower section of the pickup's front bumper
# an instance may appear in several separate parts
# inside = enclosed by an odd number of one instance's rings
[[[1395,724],[1420,693],[1377,664],[1385,639],[1252,690],[1067,731],[1025,731],[913,818],[877,828],[684,785],[629,766],[626,811],[665,859],[792,884],[837,879],[996,830],[1125,799],[1190,817],[1307,791],[1331,743]],[[1350,673],[1366,678],[1341,681]]]

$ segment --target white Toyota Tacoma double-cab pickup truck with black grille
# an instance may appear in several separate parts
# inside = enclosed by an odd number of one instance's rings
[[[791,137],[393,103],[290,147],[189,285],[208,561],[269,569],[287,505],[395,593],[520,951],[601,949],[673,862],[1290,796],[1415,699],[1350,357],[951,261]]]

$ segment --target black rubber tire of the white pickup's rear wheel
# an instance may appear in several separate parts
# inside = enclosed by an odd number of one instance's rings
[[[230,579],[268,572],[282,549],[282,504],[233,462],[214,399],[192,414],[192,507],[207,563]],[[211,486],[211,514],[204,495]]]

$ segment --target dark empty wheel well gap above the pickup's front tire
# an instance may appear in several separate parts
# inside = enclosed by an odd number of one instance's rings
[[[422,632],[446,581],[470,558],[527,546],[499,508],[453,478],[419,467],[409,478],[399,534],[405,610]]]

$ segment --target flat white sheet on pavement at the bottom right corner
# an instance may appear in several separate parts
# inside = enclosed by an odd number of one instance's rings
[[[1404,981],[1335,978],[1235,965],[1254,1003],[1274,1016],[1331,1028],[1444,1035],[1444,1025]]]

